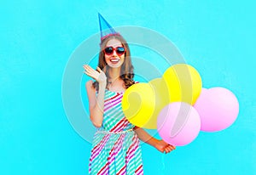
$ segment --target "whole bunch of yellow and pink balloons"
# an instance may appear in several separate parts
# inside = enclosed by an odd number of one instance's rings
[[[191,143],[200,131],[217,132],[236,121],[239,104],[226,88],[202,88],[194,67],[177,64],[162,77],[128,88],[122,99],[126,118],[137,127],[157,129],[172,145]]]

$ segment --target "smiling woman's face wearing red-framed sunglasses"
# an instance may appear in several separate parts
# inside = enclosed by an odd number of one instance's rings
[[[112,68],[120,67],[125,61],[125,52],[124,54],[121,54],[122,49],[124,48],[123,44],[117,39],[111,39],[107,42],[105,48],[108,49],[108,52],[106,52],[106,50],[104,52],[105,61],[108,64],[108,66]],[[113,52],[111,52],[111,50],[113,50]]]

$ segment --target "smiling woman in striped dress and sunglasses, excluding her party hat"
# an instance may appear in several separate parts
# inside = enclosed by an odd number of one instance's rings
[[[90,120],[97,127],[90,174],[143,174],[139,139],[160,152],[175,150],[175,146],[151,137],[124,116],[121,99],[125,89],[135,82],[130,48],[123,37],[119,34],[104,37],[98,67],[94,70],[84,65],[84,73],[96,80],[86,83]]]

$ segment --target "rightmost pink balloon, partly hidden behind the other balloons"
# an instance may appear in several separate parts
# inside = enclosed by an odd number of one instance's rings
[[[217,132],[230,127],[239,112],[234,93],[219,87],[204,89],[194,107],[201,117],[201,131],[205,132]]]

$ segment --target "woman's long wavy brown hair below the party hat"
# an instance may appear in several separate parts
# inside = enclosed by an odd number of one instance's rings
[[[101,68],[102,71],[104,71],[104,73],[107,76],[107,87],[108,84],[110,83],[108,81],[108,79],[110,78],[108,75],[108,71],[109,71],[109,66],[105,61],[105,54],[103,52],[103,49],[106,47],[107,43],[109,40],[111,39],[117,39],[119,40],[123,46],[125,47],[125,61],[124,63],[121,65],[121,72],[120,72],[120,78],[125,82],[125,88],[129,88],[131,87],[132,84],[134,84],[134,73],[133,73],[133,65],[131,64],[131,52],[130,52],[130,48],[128,46],[128,43],[125,41],[125,38],[120,36],[120,35],[112,35],[109,37],[106,37],[102,40],[100,46],[101,46],[101,51],[99,54],[99,62],[98,62],[98,67]],[[96,88],[96,90],[98,90],[99,88],[99,83],[98,82],[93,82],[93,87]]]

